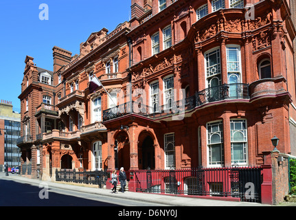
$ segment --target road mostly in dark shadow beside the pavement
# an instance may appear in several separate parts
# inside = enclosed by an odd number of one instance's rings
[[[37,185],[0,178],[0,206],[160,206],[155,203],[104,197],[59,188],[49,188],[48,193],[45,190],[46,188],[39,188]],[[45,198],[41,199],[39,195]]]

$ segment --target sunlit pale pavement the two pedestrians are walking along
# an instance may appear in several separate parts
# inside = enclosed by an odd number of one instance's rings
[[[195,197],[180,197],[175,195],[152,194],[145,192],[117,192],[111,193],[109,189],[98,188],[98,186],[87,184],[71,184],[57,181],[42,181],[41,179],[29,179],[20,175],[5,176],[5,173],[0,173],[0,179],[7,179],[24,184],[32,184],[40,186],[47,184],[49,188],[60,188],[65,190],[73,190],[77,192],[91,193],[106,197],[117,197],[120,199],[132,199],[133,201],[146,201],[163,206],[269,206],[261,203],[249,203],[242,201],[222,201],[216,199],[201,199]]]

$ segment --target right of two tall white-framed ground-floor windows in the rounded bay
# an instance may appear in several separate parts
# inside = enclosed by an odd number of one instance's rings
[[[236,125],[241,126],[241,129],[236,128]],[[244,124],[244,128],[243,128]],[[235,140],[234,134],[241,133],[243,140]],[[248,126],[246,119],[234,118],[230,120],[230,142],[231,142],[231,164],[248,165]],[[240,161],[234,160],[234,144],[242,144],[242,157]]]

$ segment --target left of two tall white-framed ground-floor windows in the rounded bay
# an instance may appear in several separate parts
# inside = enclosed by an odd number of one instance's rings
[[[218,125],[218,131],[213,131],[212,126]],[[222,130],[221,130],[222,127]],[[213,135],[220,136],[220,142],[212,142],[211,137]],[[221,167],[224,166],[224,136],[223,136],[223,120],[207,122],[207,166],[209,167]],[[212,146],[220,144],[220,161],[212,161]]]

